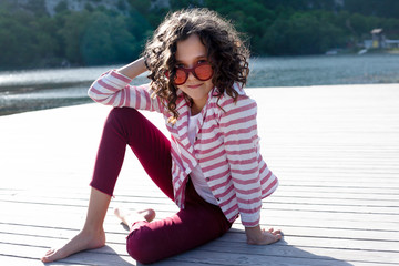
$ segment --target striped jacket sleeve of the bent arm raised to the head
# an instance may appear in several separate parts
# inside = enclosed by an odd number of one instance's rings
[[[158,98],[151,98],[149,84],[130,85],[132,79],[111,70],[102,74],[89,88],[89,96],[99,103],[115,108],[129,106],[137,110],[163,112],[164,105]]]

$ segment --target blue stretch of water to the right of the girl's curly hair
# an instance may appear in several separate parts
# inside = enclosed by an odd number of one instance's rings
[[[399,54],[252,60],[248,86],[399,83]]]

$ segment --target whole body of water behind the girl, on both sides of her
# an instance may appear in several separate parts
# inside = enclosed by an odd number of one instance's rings
[[[119,65],[0,72],[0,115],[91,102],[90,84]],[[145,74],[133,84],[146,83]],[[399,54],[253,58],[247,86],[399,83]]]

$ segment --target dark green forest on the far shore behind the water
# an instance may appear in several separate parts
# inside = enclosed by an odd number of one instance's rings
[[[130,62],[167,12],[193,7],[231,20],[256,57],[356,52],[376,28],[399,39],[397,0],[80,1],[81,10],[59,1],[53,14],[44,0],[1,1],[0,70]]]

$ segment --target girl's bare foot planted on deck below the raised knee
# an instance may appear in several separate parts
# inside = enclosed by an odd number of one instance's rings
[[[105,245],[105,232],[102,229],[98,233],[89,232],[88,229],[81,231],[76,236],[70,239],[61,248],[51,248],[41,258],[43,263],[51,263],[58,259],[65,258],[72,254],[99,248]]]

